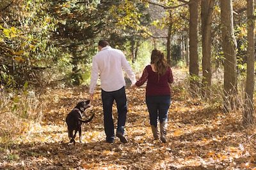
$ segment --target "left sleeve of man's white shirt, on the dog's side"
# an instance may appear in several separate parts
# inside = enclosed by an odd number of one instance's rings
[[[92,59],[92,72],[91,72],[91,82],[90,82],[90,90],[89,93],[93,94],[95,87],[97,85],[97,80],[99,78],[99,66],[95,57]]]

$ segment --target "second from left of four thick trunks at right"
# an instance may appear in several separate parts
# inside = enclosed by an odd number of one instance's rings
[[[201,0],[201,18],[202,18],[202,96],[209,97],[209,87],[212,79],[211,66],[211,21],[214,0]]]

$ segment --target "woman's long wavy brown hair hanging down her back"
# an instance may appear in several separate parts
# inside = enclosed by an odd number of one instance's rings
[[[155,64],[156,72],[159,75],[163,75],[168,68],[164,53],[156,49],[152,50],[150,64]]]

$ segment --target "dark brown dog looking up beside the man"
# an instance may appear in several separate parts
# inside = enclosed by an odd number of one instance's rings
[[[81,136],[82,136],[82,129],[81,125],[82,123],[88,123],[92,120],[94,117],[93,115],[88,120],[82,120],[82,113],[90,107],[90,101],[81,101],[77,103],[76,107],[67,115],[66,122],[68,125],[68,138],[70,139],[70,143],[76,143],[76,133],[79,132],[79,141],[81,142]],[[75,131],[75,134],[73,135],[73,131]]]

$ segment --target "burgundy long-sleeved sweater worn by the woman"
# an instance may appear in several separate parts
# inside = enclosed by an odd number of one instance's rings
[[[148,65],[135,85],[140,87],[145,81],[147,81],[146,96],[168,96],[170,95],[169,83],[173,83],[172,69],[168,67],[166,73],[160,76]]]

